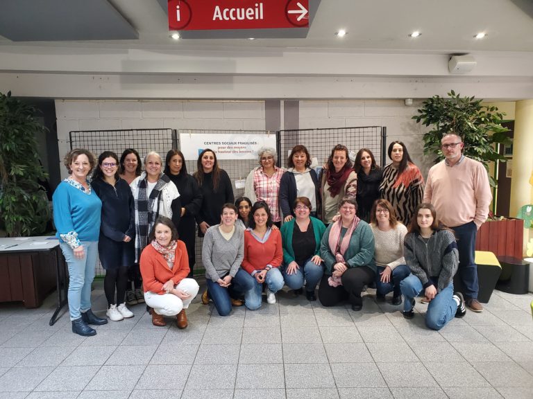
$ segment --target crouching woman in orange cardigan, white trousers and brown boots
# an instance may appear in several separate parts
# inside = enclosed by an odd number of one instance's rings
[[[178,328],[187,327],[185,309],[198,294],[198,283],[189,275],[189,257],[169,218],[155,220],[141,254],[144,301],[153,308],[154,326],[166,326],[163,316],[176,316]]]

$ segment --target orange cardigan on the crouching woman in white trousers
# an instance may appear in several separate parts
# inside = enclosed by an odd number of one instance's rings
[[[189,275],[189,256],[187,256],[185,243],[178,240],[172,269],[169,269],[167,260],[164,260],[163,256],[151,244],[146,245],[141,254],[140,268],[144,292],[166,294],[163,291],[164,283],[172,279],[176,285]]]

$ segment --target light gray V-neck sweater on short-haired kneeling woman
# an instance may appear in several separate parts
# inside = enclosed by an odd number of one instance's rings
[[[211,281],[230,274],[235,277],[244,258],[244,230],[235,227],[230,240],[223,238],[219,224],[205,232],[202,246],[202,262],[205,277]]]

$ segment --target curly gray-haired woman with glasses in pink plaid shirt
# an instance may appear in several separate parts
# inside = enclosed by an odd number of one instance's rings
[[[272,213],[272,222],[280,227],[280,181],[285,169],[276,166],[278,154],[274,148],[262,147],[257,154],[260,166],[254,168],[246,177],[244,195],[251,199],[252,204],[257,201],[267,202]]]

